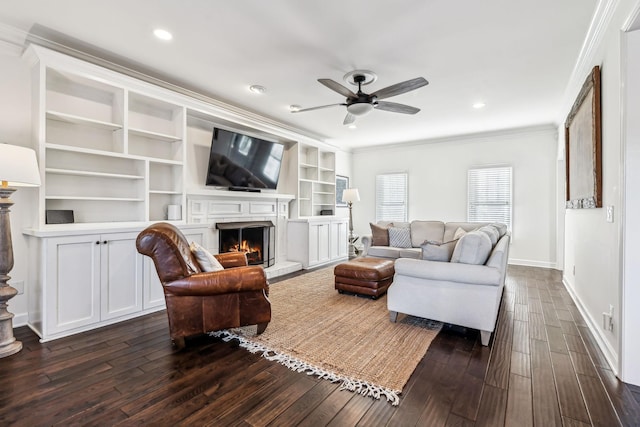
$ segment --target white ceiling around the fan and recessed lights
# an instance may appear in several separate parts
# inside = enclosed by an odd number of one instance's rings
[[[0,0],[0,22],[357,148],[557,122],[597,1]],[[348,86],[354,69],[377,74],[367,93],[425,77],[386,100],[421,111],[374,110],[353,130],[342,106],[289,112],[344,102],[317,79]]]

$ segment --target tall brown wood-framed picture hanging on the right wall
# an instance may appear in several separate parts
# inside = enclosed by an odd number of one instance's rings
[[[602,207],[600,67],[584,82],[565,122],[567,209]]]

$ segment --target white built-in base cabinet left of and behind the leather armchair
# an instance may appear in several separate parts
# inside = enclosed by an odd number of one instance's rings
[[[206,228],[182,230],[204,244]],[[135,232],[39,236],[31,242],[34,268],[29,326],[43,341],[105,326],[164,307],[153,261],[136,250]]]

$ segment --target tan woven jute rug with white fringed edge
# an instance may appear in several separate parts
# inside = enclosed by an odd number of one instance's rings
[[[268,360],[393,405],[442,327],[413,316],[391,323],[386,296],[339,294],[333,267],[274,283],[269,299],[271,322],[261,335],[255,326],[211,335],[237,339]]]

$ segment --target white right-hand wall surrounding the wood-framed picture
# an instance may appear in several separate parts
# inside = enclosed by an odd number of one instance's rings
[[[583,52],[581,63],[569,84],[567,93],[574,100],[593,66],[600,65],[602,73],[602,183],[603,205],[613,206],[614,222],[606,221],[606,209],[567,209],[564,216],[564,275],[565,285],[587,320],[600,348],[611,367],[620,372],[621,306],[622,306],[622,226],[623,208],[623,133],[621,71],[621,30],[637,0],[603,2],[610,7],[608,25],[598,28],[589,49]],[[615,7],[615,8],[614,8]],[[597,33],[596,31],[596,33]],[[633,94],[637,96],[637,94]],[[567,104],[565,116],[572,101]],[[636,120],[637,117],[631,118]],[[575,275],[573,270],[575,267]],[[613,330],[605,328],[603,312],[613,307]],[[637,329],[640,325],[629,325]],[[637,356],[637,355],[636,355]],[[637,364],[637,358],[636,362]],[[629,381],[629,378],[622,378]],[[636,383],[640,378],[636,378]]]

